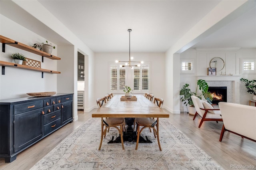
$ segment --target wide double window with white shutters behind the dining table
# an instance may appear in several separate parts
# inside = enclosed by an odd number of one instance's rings
[[[144,63],[145,64],[145,63]],[[141,65],[140,67],[119,67],[110,64],[110,91],[122,93],[125,85],[130,85],[133,90],[138,92],[150,89],[150,66]]]

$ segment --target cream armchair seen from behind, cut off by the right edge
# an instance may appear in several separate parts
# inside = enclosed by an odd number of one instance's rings
[[[256,142],[256,107],[226,102],[219,106],[223,119],[220,142],[225,131]]]

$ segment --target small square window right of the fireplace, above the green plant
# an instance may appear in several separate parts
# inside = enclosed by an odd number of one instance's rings
[[[256,59],[240,59],[240,74],[255,74]]]

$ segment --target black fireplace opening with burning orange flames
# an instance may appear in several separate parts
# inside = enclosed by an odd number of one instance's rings
[[[209,87],[208,92],[212,96],[212,103],[227,102],[227,87]]]

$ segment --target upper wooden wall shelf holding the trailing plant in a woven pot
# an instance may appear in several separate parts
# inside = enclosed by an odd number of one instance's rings
[[[23,49],[25,51],[29,51],[31,53],[34,53],[34,54],[37,54],[37,55],[41,55],[42,57],[46,57],[46,58],[49,58],[49,59],[58,59],[60,60],[59,57],[57,56],[54,56],[54,55],[51,55],[49,53],[46,53],[44,51],[40,51],[39,49],[35,49],[34,47],[30,47],[28,45],[25,45],[23,43],[20,43],[20,42],[16,42],[10,38],[6,38],[4,36],[1,36],[0,35],[0,42],[3,43],[3,52],[5,52],[5,45],[10,45],[10,46],[13,46],[13,47],[16,47],[16,48],[19,48],[19,49]]]

